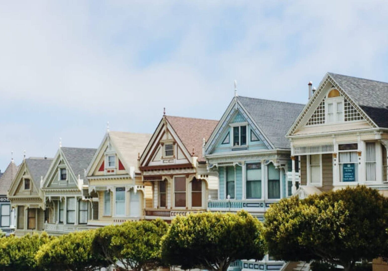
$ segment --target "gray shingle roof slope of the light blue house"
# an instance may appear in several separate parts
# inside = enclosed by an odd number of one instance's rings
[[[305,105],[241,96],[238,100],[275,148],[290,148],[286,133]]]

